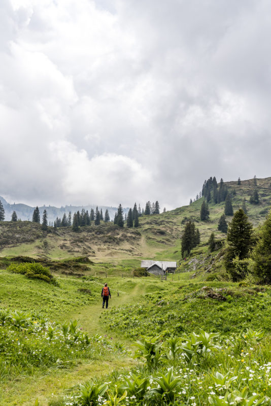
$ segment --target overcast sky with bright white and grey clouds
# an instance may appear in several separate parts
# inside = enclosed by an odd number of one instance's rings
[[[271,176],[269,0],[1,0],[0,195],[189,203]]]

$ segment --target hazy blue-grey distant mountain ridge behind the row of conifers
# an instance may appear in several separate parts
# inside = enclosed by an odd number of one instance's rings
[[[33,210],[35,209],[35,207],[31,207],[28,205],[24,205],[22,203],[14,203],[14,204],[10,204],[7,202],[6,199],[4,199],[3,196],[0,196],[0,200],[2,201],[2,204],[4,206],[4,210],[5,210],[5,221],[10,221],[11,220],[11,216],[13,211],[16,212],[18,219],[21,220],[32,220],[32,215],[33,215]],[[41,215],[41,219],[42,219],[42,214],[43,211],[46,210],[47,211],[47,215],[48,215],[48,222],[49,221],[55,221],[56,217],[59,217],[62,219],[63,214],[66,213],[66,215],[69,214],[69,212],[72,213],[72,215],[75,212],[78,212],[78,210],[81,212],[81,210],[84,208],[85,210],[88,210],[88,212],[90,213],[90,210],[93,209],[95,211],[97,205],[87,205],[87,206],[61,206],[60,208],[55,207],[55,206],[40,206],[39,210],[40,210],[40,215]],[[105,211],[108,209],[109,212],[109,216],[110,216],[110,220],[114,220],[115,217],[115,213],[117,212],[118,208],[117,207],[112,207],[112,206],[98,206],[98,209],[102,209],[103,210],[103,214],[105,215]],[[123,213],[128,213],[129,208],[123,208]]]

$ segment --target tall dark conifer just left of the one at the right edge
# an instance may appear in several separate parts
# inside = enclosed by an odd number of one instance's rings
[[[252,234],[253,228],[252,224],[248,221],[248,216],[242,209],[239,209],[234,213],[228,226],[228,248],[225,254],[225,267],[233,281],[244,278],[247,272],[244,259],[249,256],[253,245]],[[236,267],[233,259],[239,261],[241,270]]]

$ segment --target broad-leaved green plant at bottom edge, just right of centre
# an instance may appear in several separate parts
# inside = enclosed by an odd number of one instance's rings
[[[168,369],[167,374],[162,374],[159,378],[153,378],[153,382],[157,383],[157,388],[152,388],[150,395],[158,395],[166,403],[173,403],[176,392],[181,388],[181,378],[174,377],[173,366]]]

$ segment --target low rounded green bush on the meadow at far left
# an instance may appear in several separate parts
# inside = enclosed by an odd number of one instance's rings
[[[50,270],[40,263],[12,263],[8,267],[8,270],[15,274],[25,275],[27,278],[41,279],[47,283],[57,285],[57,281],[54,279]]]

